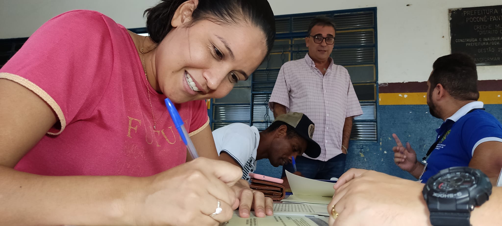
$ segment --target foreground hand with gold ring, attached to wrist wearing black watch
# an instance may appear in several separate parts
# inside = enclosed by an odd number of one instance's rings
[[[384,173],[350,169],[336,182],[330,226],[428,226],[423,184]],[[335,220],[336,219],[336,220]]]

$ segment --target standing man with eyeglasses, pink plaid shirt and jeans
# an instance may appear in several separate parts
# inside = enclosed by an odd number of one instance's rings
[[[281,67],[269,100],[274,117],[296,111],[314,122],[312,139],[321,146],[321,154],[296,159],[297,174],[311,179],[330,179],[344,172],[352,119],[362,115],[347,70],[330,57],[334,42],[333,21],[315,18],[305,38],[308,53]],[[283,179],[285,170],[295,172],[291,164],[283,166]]]

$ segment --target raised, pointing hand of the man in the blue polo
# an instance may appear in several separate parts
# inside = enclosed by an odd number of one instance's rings
[[[402,170],[413,172],[413,170],[417,167],[417,153],[413,150],[413,148],[411,148],[411,145],[408,142],[406,142],[405,148],[403,143],[401,143],[401,140],[399,140],[398,135],[392,134],[392,137],[396,140],[397,145],[392,148],[392,151],[394,151],[394,162]]]

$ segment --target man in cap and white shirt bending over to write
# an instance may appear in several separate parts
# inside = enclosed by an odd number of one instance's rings
[[[256,161],[269,159],[275,167],[291,163],[292,157],[305,153],[316,158],[321,147],[312,140],[314,123],[305,115],[290,112],[275,119],[262,132],[254,126],[233,123],[213,131],[220,160],[242,169],[242,179],[251,181],[249,173],[256,171]]]

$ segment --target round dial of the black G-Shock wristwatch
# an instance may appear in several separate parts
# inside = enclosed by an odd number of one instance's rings
[[[437,191],[451,191],[453,189],[469,188],[476,184],[473,175],[465,172],[448,173],[436,179],[432,187]]]

